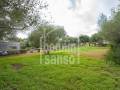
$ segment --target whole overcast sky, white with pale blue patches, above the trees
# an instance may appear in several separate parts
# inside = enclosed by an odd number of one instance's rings
[[[47,20],[52,17],[52,23],[64,26],[68,35],[79,36],[96,33],[98,16],[100,13],[110,16],[118,0],[47,0],[47,3]]]

